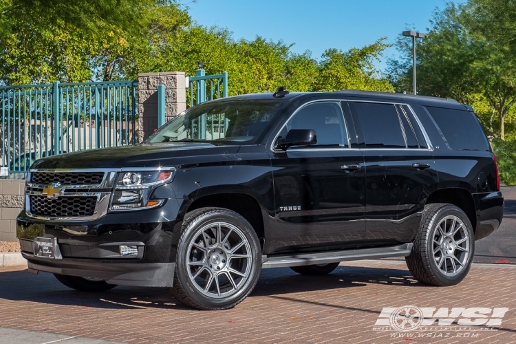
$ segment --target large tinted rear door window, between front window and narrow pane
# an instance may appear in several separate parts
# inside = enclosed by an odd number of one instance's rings
[[[350,103],[360,121],[366,148],[407,148],[394,105]]]

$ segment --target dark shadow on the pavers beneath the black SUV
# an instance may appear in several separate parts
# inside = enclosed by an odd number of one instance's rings
[[[174,299],[166,288],[118,286],[107,292],[78,292],[63,286],[49,273],[32,275],[28,270],[0,272],[0,299],[30,301],[53,305],[75,305],[83,308],[131,309],[164,308],[193,310]],[[290,268],[261,271],[255,290],[249,297],[286,297],[288,294],[317,290],[361,288],[368,283],[400,286],[424,286],[406,268],[363,268],[338,266],[329,275],[299,275]]]

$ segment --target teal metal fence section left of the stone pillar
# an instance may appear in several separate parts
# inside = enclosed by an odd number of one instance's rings
[[[49,155],[136,143],[138,81],[0,87],[0,155],[23,179]]]

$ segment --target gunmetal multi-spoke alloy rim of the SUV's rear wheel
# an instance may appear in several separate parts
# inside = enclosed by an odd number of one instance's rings
[[[440,220],[433,230],[433,259],[445,276],[456,276],[469,260],[469,234],[455,215]]]

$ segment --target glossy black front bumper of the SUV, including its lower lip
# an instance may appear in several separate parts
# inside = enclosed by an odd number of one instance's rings
[[[103,279],[125,286],[170,287],[173,283],[179,204],[169,199],[149,211],[108,214],[95,221],[52,222],[22,211],[17,237],[31,272]],[[56,238],[63,259],[34,257],[34,237]],[[122,257],[119,246],[138,246],[137,257]]]

